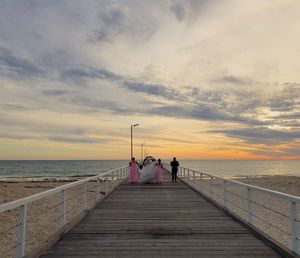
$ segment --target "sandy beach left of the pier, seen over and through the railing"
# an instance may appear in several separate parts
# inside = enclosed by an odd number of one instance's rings
[[[47,180],[46,182],[2,180],[0,181],[0,204],[53,189],[66,183],[70,183],[70,180]],[[84,210],[82,190],[82,185],[67,190],[67,221],[74,219]],[[96,182],[88,183],[87,198],[87,206],[90,207],[96,199]],[[39,246],[59,229],[60,202],[60,195],[53,194],[27,206],[27,250]],[[0,225],[0,257],[15,257],[17,211],[1,213]]]

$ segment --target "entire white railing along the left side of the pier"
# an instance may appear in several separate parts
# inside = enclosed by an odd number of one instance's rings
[[[0,205],[0,257],[31,257],[128,176],[128,166]]]

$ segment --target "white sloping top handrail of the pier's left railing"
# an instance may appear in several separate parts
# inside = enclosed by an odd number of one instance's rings
[[[123,167],[120,167],[118,169],[123,169],[123,168],[126,168],[126,167],[128,167],[128,166],[123,166]],[[85,178],[85,179],[78,180],[76,182],[72,182],[72,183],[62,185],[62,186],[58,186],[58,187],[55,187],[54,189],[50,189],[50,190],[46,190],[44,192],[33,194],[33,195],[30,195],[30,196],[21,198],[19,200],[15,200],[15,201],[11,201],[11,202],[8,202],[8,203],[1,204],[0,205],[0,214],[2,212],[7,211],[7,210],[15,209],[18,206],[29,204],[31,202],[37,201],[37,200],[42,199],[44,197],[47,197],[49,195],[61,192],[62,190],[66,190],[66,189],[72,188],[74,186],[81,185],[85,182],[89,182],[91,180],[95,180],[95,179],[98,179],[100,177],[104,177],[104,176],[110,174],[113,171],[115,171],[115,169],[112,169],[112,170],[110,170],[108,172],[105,172],[103,174],[99,174],[99,175],[96,175],[96,176],[92,176],[92,177],[88,177],[88,178]]]

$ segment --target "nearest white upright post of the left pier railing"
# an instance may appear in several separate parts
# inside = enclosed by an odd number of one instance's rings
[[[17,258],[25,255],[27,205],[18,207]]]

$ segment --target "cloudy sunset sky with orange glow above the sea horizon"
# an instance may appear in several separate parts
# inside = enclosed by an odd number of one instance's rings
[[[2,0],[0,159],[299,159],[299,12]]]

